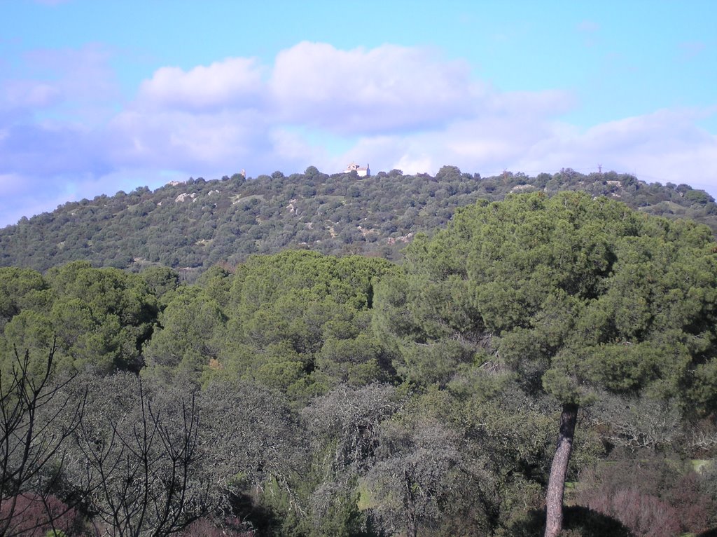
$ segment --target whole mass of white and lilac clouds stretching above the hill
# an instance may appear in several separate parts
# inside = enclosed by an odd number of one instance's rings
[[[635,172],[717,195],[715,109],[658,110],[579,129],[557,88],[505,92],[436,50],[340,50],[300,42],[271,65],[229,57],[160,67],[119,98],[100,47],[37,51],[0,75],[0,225],[58,202],[247,169],[336,172],[346,162],[407,173],[561,167]],[[582,103],[580,106],[589,106]],[[336,149],[341,147],[341,149]],[[348,148],[348,149],[346,149]]]

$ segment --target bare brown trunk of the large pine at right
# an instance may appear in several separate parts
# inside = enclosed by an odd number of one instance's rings
[[[568,473],[568,462],[575,436],[575,422],[578,416],[578,406],[575,403],[565,403],[560,415],[560,434],[558,446],[555,449],[553,465],[550,469],[548,494],[546,495],[546,524],[545,537],[557,537],[563,529],[563,492],[565,490],[565,477]]]

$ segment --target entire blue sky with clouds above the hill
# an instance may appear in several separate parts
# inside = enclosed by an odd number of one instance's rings
[[[0,0],[0,226],[189,177],[614,170],[717,198],[717,2]]]

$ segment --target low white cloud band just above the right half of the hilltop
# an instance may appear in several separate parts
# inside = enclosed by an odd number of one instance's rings
[[[457,121],[428,133],[366,136],[343,159],[409,173],[435,173],[443,164],[454,164],[483,175],[564,167],[589,172],[602,164],[604,170],[635,173],[647,182],[686,182],[717,196],[717,136],[695,125],[701,117],[697,111],[657,111],[586,131],[548,113],[526,118],[520,111],[516,107],[505,118]]]

